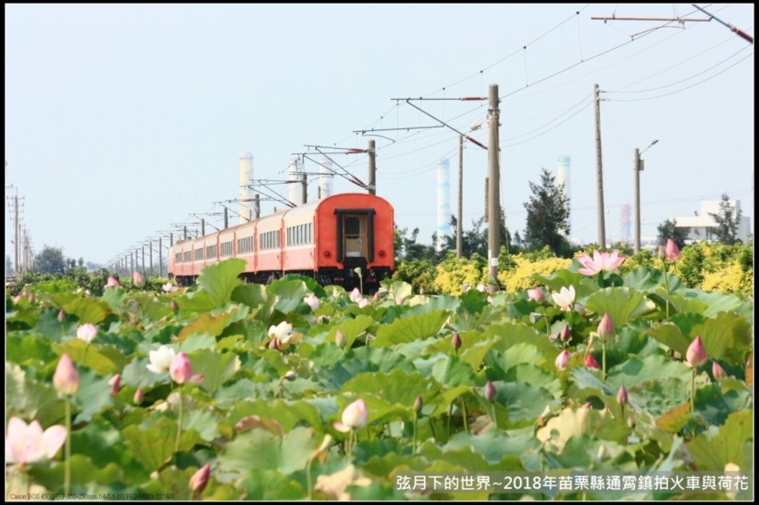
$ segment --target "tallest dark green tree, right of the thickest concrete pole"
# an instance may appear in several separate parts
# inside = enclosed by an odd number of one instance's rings
[[[541,169],[540,186],[530,182],[530,201],[524,203],[527,210],[527,227],[524,242],[532,251],[548,246],[557,256],[567,255],[571,246],[562,231],[568,236],[569,198],[563,192],[563,184],[556,185],[555,177],[545,168]]]

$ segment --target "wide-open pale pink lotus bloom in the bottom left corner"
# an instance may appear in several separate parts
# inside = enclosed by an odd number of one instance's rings
[[[42,431],[37,420],[27,425],[20,418],[10,418],[5,435],[5,462],[26,465],[51,459],[66,442],[66,434],[65,426],[50,426]]]

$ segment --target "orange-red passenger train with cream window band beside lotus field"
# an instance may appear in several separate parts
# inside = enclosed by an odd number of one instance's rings
[[[373,294],[393,275],[394,239],[387,200],[343,193],[172,244],[168,272],[178,286],[191,286],[204,267],[240,258],[246,261],[244,282],[269,284],[301,274],[321,286],[362,286]]]

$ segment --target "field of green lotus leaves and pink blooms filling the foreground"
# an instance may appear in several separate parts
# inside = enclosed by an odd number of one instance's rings
[[[182,289],[26,286],[5,303],[5,498],[750,500],[610,484],[753,475],[753,294],[688,288],[678,259],[621,277],[586,254],[517,294],[244,284],[236,259]],[[608,485],[414,485],[571,472]]]

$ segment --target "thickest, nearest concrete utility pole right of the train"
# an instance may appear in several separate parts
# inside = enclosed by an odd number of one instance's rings
[[[488,264],[489,291],[495,294],[498,287],[498,254],[501,251],[501,205],[498,186],[500,186],[500,167],[498,166],[498,85],[490,85],[490,105],[488,108]]]

